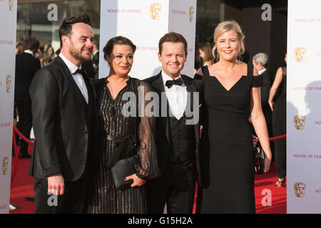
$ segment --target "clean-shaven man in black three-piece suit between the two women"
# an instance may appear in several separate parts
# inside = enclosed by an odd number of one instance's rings
[[[146,183],[148,213],[163,213],[165,204],[168,213],[192,213],[195,180],[202,184],[200,172],[196,171],[200,170],[198,98],[202,82],[180,73],[188,55],[182,35],[167,33],[158,46],[162,71],[144,80],[161,101],[156,147],[162,176]]]

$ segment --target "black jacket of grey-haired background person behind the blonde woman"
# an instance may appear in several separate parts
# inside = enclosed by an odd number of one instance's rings
[[[269,71],[264,71],[261,74],[263,78],[263,86],[261,87],[261,105],[262,110],[265,116],[265,120],[267,124],[272,124],[272,110],[268,103],[269,95],[270,95],[270,88],[272,86],[271,76]]]

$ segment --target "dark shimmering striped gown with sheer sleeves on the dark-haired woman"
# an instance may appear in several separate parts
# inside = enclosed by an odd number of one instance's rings
[[[113,100],[106,84],[106,78],[93,83],[96,90],[96,103],[98,105],[99,125],[101,128],[100,144],[101,157],[99,159],[98,173],[93,177],[93,186],[89,194],[88,213],[93,214],[141,214],[146,213],[146,192],[145,186],[128,187],[123,190],[116,190],[111,170],[106,169],[108,160],[115,151],[115,143],[108,140],[107,135],[117,138],[125,138],[128,134],[138,132],[140,140],[139,155],[141,167],[138,168],[136,175],[141,179],[152,179],[158,177],[158,160],[156,145],[154,142],[155,118],[148,118],[147,115],[141,117],[125,117],[122,114],[123,105],[128,103],[128,99],[123,99],[123,95],[135,93],[138,95],[138,86],[141,86],[144,93],[141,93],[141,106],[146,107],[147,101],[143,100],[145,94],[151,91],[147,83],[141,82],[136,78],[129,78],[127,85]],[[137,103],[136,103],[137,104]],[[138,105],[136,105],[138,108]],[[136,113],[136,112],[134,112]],[[138,124],[138,128],[135,127]]]

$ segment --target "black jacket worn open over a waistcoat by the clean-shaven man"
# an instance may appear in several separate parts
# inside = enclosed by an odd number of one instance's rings
[[[202,103],[202,94],[203,94],[203,82],[200,80],[193,80],[193,78],[190,78],[188,76],[182,75],[182,79],[186,85],[188,92],[198,92],[199,98],[200,98],[200,105]],[[161,73],[158,73],[158,75],[153,76],[151,78],[146,78],[146,83],[149,83],[151,87],[153,88],[153,91],[158,93],[158,97],[160,100],[159,104],[159,115],[160,117],[156,118],[156,148],[158,152],[158,165],[161,169],[161,171],[165,170],[166,162],[168,160],[168,152],[170,151],[170,139],[169,139],[169,131],[170,131],[170,124],[169,124],[169,118],[168,115],[162,116],[162,110],[161,110],[161,93],[164,93],[163,98],[167,98],[165,95],[165,90],[163,86],[163,78],[161,76]],[[193,98],[193,95],[191,96]],[[192,105],[193,107],[193,105]],[[199,107],[198,107],[199,108]],[[200,186],[202,186],[202,174],[200,173],[200,154],[198,150],[199,142],[200,142],[200,121],[198,121],[197,124],[194,125],[195,130],[195,161],[197,165],[198,170],[198,182]]]

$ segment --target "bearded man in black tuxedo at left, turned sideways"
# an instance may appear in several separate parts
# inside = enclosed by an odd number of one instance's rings
[[[83,212],[98,128],[93,86],[81,69],[93,49],[90,24],[86,13],[65,19],[61,53],[31,83],[36,142],[29,175],[35,178],[36,213]]]

